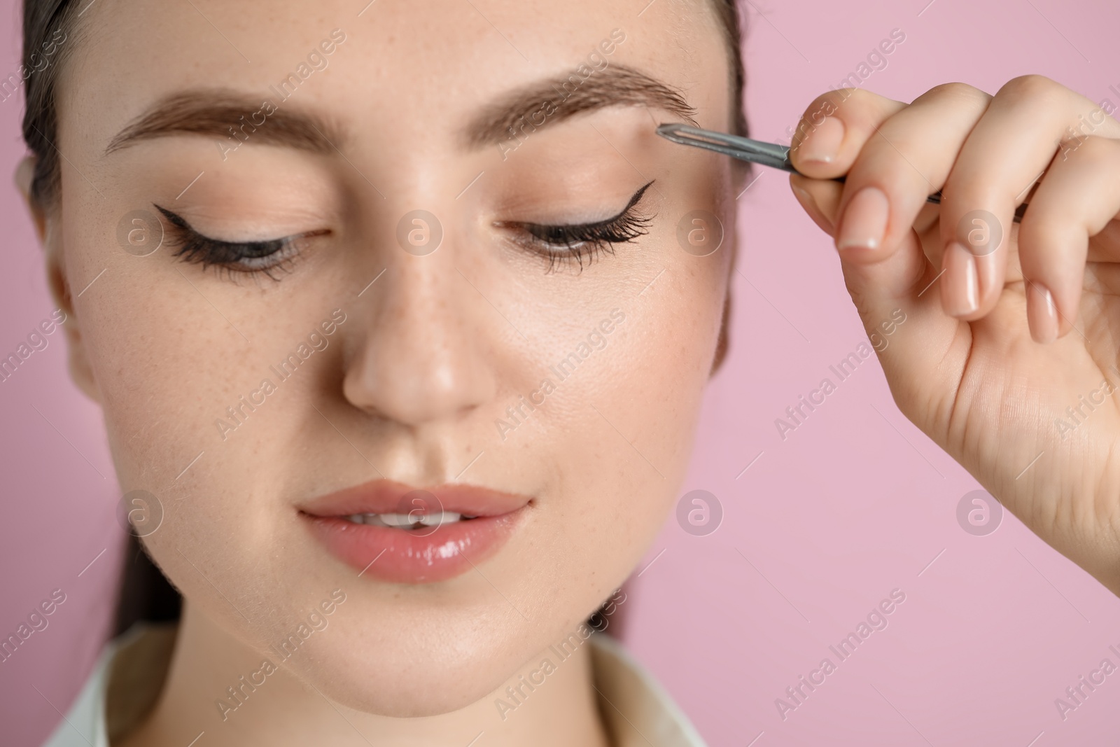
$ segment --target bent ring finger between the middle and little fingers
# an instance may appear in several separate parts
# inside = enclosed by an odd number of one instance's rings
[[[1084,96],[1040,75],[1008,82],[989,102],[943,187],[941,291],[948,314],[979,319],[996,306],[1015,208],[1053,159],[1066,130],[1079,123],[1079,114],[1095,109]],[[1102,131],[1107,127],[1102,124]]]

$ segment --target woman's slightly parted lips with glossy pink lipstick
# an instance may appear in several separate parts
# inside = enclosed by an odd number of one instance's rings
[[[505,544],[532,498],[473,485],[418,489],[379,479],[299,506],[343,562],[399,583],[454,578]]]

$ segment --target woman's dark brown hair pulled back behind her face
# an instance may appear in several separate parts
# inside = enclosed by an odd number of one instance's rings
[[[744,112],[743,34],[745,19],[739,12],[738,0],[711,0],[724,31],[730,56],[734,121],[731,132],[747,137],[747,118]],[[77,46],[80,29],[77,18],[92,1],[80,0],[24,0],[24,67],[27,110],[24,112],[24,141],[35,155],[31,178],[31,199],[41,209],[53,209],[58,203],[60,183],[59,152],[55,146],[58,137],[57,92],[58,75],[66,59]],[[58,35],[63,41],[57,41]],[[54,40],[54,45],[52,41]],[[44,55],[50,49],[52,54]],[[39,62],[36,62],[36,58]],[[46,59],[44,67],[38,65]],[[29,73],[29,74],[28,74]],[[720,335],[716,365],[727,349],[726,326]],[[114,632],[128,629],[138,619],[164,620],[179,616],[181,598],[164,575],[149,559],[134,535],[129,535],[124,555],[120,597]]]

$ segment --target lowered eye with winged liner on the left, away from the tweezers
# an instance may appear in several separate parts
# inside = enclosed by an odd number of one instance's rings
[[[299,254],[299,240],[326,231],[282,236],[263,241],[233,242],[211,239],[198,233],[181,216],[155,206],[172,226],[168,244],[176,248],[175,256],[184,262],[214,265],[233,273],[263,273],[276,280],[274,271],[284,269]]]

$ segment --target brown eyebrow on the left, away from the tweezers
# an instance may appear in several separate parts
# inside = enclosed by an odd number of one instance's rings
[[[271,109],[271,113],[269,113]],[[197,88],[165,96],[110,140],[105,153],[142,140],[200,134],[288,146],[316,153],[342,147],[338,128],[307,111],[267,106],[259,96],[225,88]]]

